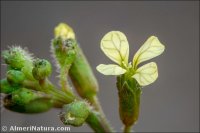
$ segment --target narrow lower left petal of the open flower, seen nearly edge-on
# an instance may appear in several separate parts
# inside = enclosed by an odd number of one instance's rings
[[[104,75],[121,75],[126,72],[125,69],[114,64],[109,64],[109,65],[100,64],[96,67],[96,69]]]

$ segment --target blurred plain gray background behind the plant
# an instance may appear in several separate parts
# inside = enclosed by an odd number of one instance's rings
[[[50,40],[60,22],[73,27],[99,81],[99,99],[113,127],[122,131],[114,76],[103,76],[95,67],[113,63],[100,50],[100,40],[111,30],[124,32],[130,57],[151,35],[165,45],[164,54],[153,59],[158,80],[143,88],[136,132],[199,131],[199,2],[110,1],[110,2],[1,2],[1,50],[11,45],[28,47],[35,56],[51,60]],[[2,61],[2,60],[1,60]],[[55,68],[55,67],[54,67]],[[55,70],[55,69],[54,69]],[[1,67],[1,77],[5,67]],[[55,71],[51,80],[57,83]],[[25,115],[5,109],[1,124],[10,126],[64,126],[58,109]],[[71,132],[91,132],[84,125]]]

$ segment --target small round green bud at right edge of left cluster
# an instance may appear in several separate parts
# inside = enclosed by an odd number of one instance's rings
[[[33,77],[36,80],[45,79],[51,74],[51,64],[45,59],[36,59],[34,62],[34,68],[32,70]]]

